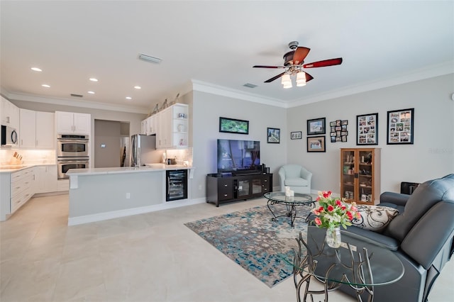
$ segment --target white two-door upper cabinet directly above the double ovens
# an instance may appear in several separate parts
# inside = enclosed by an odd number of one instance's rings
[[[90,134],[92,117],[86,113],[55,111],[57,134]]]

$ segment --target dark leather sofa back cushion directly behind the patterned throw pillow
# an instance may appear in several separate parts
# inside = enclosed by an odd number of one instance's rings
[[[384,235],[402,242],[415,223],[439,201],[454,199],[454,174],[441,179],[433,179],[419,185],[406,201],[402,215],[389,223]]]

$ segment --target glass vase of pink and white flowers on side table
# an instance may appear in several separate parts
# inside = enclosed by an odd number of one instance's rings
[[[351,220],[359,218],[360,213],[355,203],[345,203],[345,198],[335,198],[331,194],[331,191],[319,191],[316,201],[320,206],[312,213],[317,216],[314,223],[319,228],[326,228],[328,246],[338,248],[341,246],[341,225],[343,228],[352,225]]]

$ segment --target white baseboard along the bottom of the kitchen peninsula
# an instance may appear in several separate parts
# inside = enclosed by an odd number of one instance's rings
[[[180,200],[180,201],[167,201],[166,203],[155,204],[153,206],[143,206],[140,208],[127,208],[124,210],[97,213],[97,214],[86,215],[86,216],[69,217],[68,225],[80,225],[83,223],[94,223],[96,221],[101,221],[101,220],[109,220],[109,219],[133,216],[133,215],[138,215],[138,214],[143,214],[143,213],[162,211],[162,210],[167,210],[169,208],[192,206],[197,203],[205,203],[205,202],[206,202],[205,198],[184,199],[184,200]]]

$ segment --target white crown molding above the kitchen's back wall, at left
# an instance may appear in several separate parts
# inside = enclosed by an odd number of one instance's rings
[[[62,106],[73,106],[73,107],[82,107],[82,108],[92,108],[100,110],[109,110],[109,111],[121,111],[128,113],[140,113],[148,114],[150,108],[146,107],[133,107],[133,106],[121,106],[121,105],[111,105],[104,104],[94,101],[85,101],[85,100],[73,100],[73,99],[57,99],[51,97],[35,96],[31,94],[9,94],[7,91],[2,91],[2,94],[9,100],[16,101],[30,101],[35,103],[44,103],[44,104],[54,104]]]

